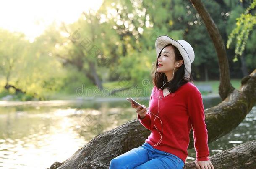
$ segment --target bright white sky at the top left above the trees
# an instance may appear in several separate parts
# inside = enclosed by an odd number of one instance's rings
[[[102,0],[6,0],[0,3],[0,28],[22,32],[32,42],[54,20],[73,23],[101,4]]]

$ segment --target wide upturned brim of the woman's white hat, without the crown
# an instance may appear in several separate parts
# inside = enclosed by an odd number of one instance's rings
[[[179,51],[181,56],[183,57],[184,65],[185,65],[185,79],[189,79],[190,77],[190,72],[191,72],[191,61],[189,59],[188,52],[183,48],[183,46],[176,40],[170,38],[167,35],[159,36],[157,37],[157,40],[155,42],[156,46],[156,53],[157,53],[157,58],[161,51],[165,48],[165,46],[172,44],[174,45]]]

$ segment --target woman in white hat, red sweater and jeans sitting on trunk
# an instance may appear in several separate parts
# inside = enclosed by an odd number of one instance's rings
[[[156,71],[149,108],[136,107],[141,124],[151,131],[145,143],[110,161],[110,169],[183,169],[193,128],[196,167],[214,169],[201,93],[190,75],[194,51],[185,40],[167,35],[156,40]],[[192,82],[192,83],[191,83]],[[161,89],[164,88],[164,89]]]

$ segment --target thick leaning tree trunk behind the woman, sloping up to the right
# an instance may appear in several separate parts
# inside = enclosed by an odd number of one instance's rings
[[[234,90],[222,103],[205,110],[208,143],[235,129],[255,105],[256,69],[249,76],[243,78],[241,83],[239,91]],[[69,159],[59,163],[58,169],[106,169],[109,167],[111,159],[141,146],[149,134],[150,131],[142,126],[138,119],[128,121],[115,129],[96,136]],[[193,131],[191,129],[188,149],[193,148],[193,144]],[[248,161],[251,160],[251,155],[244,155]],[[219,159],[219,161],[223,162],[225,159]],[[217,162],[219,161],[217,160]],[[214,166],[218,165],[215,161],[211,162]],[[243,166],[247,165],[250,166],[251,164],[243,164]],[[51,166],[51,169],[54,168],[56,167]]]

